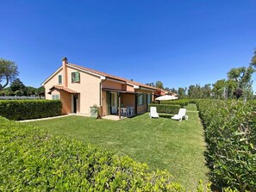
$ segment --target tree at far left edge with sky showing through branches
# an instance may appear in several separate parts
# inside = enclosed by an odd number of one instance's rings
[[[0,90],[3,90],[9,83],[18,76],[18,66],[14,61],[0,59]],[[1,84],[2,82],[5,82]]]

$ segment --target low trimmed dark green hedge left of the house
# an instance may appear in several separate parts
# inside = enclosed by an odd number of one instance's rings
[[[6,100],[0,101],[0,115],[9,120],[29,120],[61,115],[59,100]]]

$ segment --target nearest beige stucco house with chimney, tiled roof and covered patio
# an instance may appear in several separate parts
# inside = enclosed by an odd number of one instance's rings
[[[121,115],[122,108],[132,108],[133,115],[147,111],[157,88],[122,77],[109,75],[62,59],[62,65],[42,83],[46,99],[60,99],[63,114],[90,115],[91,107],[101,108],[101,115]],[[120,113],[119,113],[120,111]],[[131,115],[132,115],[131,114]],[[127,115],[127,114],[125,114]]]

